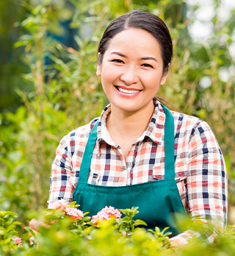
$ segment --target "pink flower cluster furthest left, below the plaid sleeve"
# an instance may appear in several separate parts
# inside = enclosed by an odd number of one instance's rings
[[[51,209],[65,211],[67,216],[70,216],[75,221],[76,219],[83,218],[82,210],[70,207],[68,201],[63,199],[51,204]]]

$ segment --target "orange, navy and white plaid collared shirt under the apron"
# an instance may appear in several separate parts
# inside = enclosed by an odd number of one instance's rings
[[[126,160],[120,146],[112,141],[106,129],[110,106],[104,108],[99,118],[101,122],[88,183],[124,186],[164,179],[165,115],[156,99],[153,99],[153,103],[156,107],[148,129],[131,146]],[[184,207],[192,220],[209,221],[214,227],[223,229],[227,217],[228,187],[220,147],[206,122],[183,113],[171,112],[175,122],[176,184]],[[60,141],[52,164],[48,207],[58,199],[73,200],[84,149],[96,121],[97,118],[73,130]],[[213,243],[216,231],[202,234],[187,230],[171,240],[184,244],[192,235]]]

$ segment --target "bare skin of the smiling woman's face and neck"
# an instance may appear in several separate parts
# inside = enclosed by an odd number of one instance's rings
[[[158,41],[142,29],[119,32],[109,41],[96,74],[111,103],[106,127],[126,158],[131,145],[148,128],[153,98],[167,79]]]

